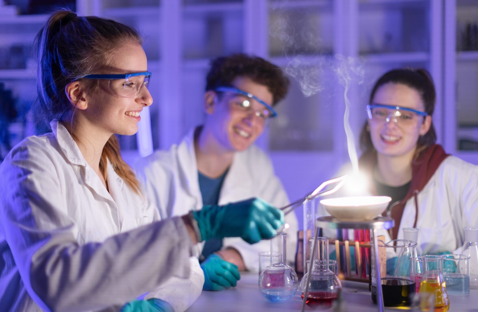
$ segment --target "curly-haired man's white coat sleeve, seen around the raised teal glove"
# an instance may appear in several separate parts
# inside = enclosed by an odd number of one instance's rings
[[[281,181],[274,174],[272,163],[263,152],[256,157],[255,166],[258,170],[254,180],[258,182],[259,197],[270,202],[277,208],[285,206],[289,203],[287,194],[282,186]],[[262,161],[261,161],[262,160]],[[285,217],[285,223],[289,225],[284,231],[287,233],[286,239],[286,260],[289,264],[295,261],[295,251],[297,247],[297,231],[298,222],[295,213],[290,213]],[[262,240],[259,243],[250,245],[240,238],[225,238],[223,241],[224,248],[232,247],[238,250],[242,256],[246,269],[250,271],[259,271],[259,253],[271,250],[270,240]]]

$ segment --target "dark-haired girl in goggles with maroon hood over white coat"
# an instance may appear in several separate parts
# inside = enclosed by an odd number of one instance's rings
[[[392,198],[390,238],[418,228],[424,254],[457,252],[465,226],[478,225],[478,166],[436,145],[435,87],[425,69],[395,69],[376,82],[361,134],[360,171],[369,191]]]

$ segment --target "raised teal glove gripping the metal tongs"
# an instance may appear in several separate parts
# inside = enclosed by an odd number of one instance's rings
[[[274,237],[275,230],[284,223],[283,212],[260,198],[204,206],[194,212],[194,217],[203,240],[241,237],[249,244]]]

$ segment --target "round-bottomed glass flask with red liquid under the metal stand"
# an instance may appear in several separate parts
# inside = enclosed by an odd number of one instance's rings
[[[329,269],[328,237],[317,237],[317,252],[312,269],[307,272],[307,275],[310,274],[310,282],[305,304],[314,309],[328,309],[342,291],[340,279]],[[304,275],[301,282],[300,292],[303,299],[307,278],[308,276]]]

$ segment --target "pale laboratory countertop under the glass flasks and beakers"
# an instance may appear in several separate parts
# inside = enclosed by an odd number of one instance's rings
[[[203,291],[188,312],[236,312],[236,311],[301,311],[302,299],[299,292],[282,303],[267,301],[258,286],[257,273],[243,272],[235,288],[222,291]],[[342,281],[344,307],[342,311],[378,311],[373,304],[369,285],[365,283]],[[478,290],[470,290],[467,296],[451,296],[449,312],[478,312]],[[305,307],[305,311],[318,311]],[[332,312],[330,308],[326,311]],[[403,311],[398,308],[385,308],[385,311]]]

